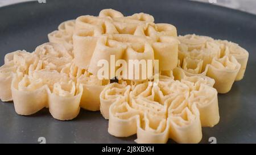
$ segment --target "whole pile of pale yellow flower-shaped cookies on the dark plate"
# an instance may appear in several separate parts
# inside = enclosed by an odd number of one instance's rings
[[[227,93],[245,74],[248,52],[207,36],[177,36],[171,24],[139,13],[105,9],[98,16],[68,20],[34,52],[15,51],[0,68],[0,99],[13,100],[17,114],[49,108],[53,118],[71,120],[80,107],[101,111],[117,137],[137,134],[137,143],[199,143],[201,127],[219,122],[217,93]],[[130,66],[108,66],[117,77],[98,77],[105,60],[158,60],[134,79]],[[147,72],[149,66],[147,66]],[[112,71],[111,71],[112,70]],[[153,71],[154,70],[154,71]],[[158,71],[158,72],[156,72]],[[126,73],[126,74],[125,74]]]

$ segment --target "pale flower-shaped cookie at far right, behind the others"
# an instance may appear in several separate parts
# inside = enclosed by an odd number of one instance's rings
[[[197,35],[178,39],[181,42],[178,67],[186,76],[213,78],[218,93],[228,93],[234,81],[242,79],[249,54],[239,45]]]

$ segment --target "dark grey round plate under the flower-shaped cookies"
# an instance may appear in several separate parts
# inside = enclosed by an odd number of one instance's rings
[[[256,6],[255,6],[256,7]],[[146,12],[156,23],[171,23],[179,34],[197,33],[239,43],[249,51],[245,77],[235,82],[228,94],[218,95],[220,123],[203,128],[201,143],[216,137],[217,143],[256,143],[256,16],[189,1],[57,1],[27,2],[0,8],[0,63],[6,53],[18,49],[34,51],[47,41],[47,34],[59,23],[80,15],[98,15],[112,8],[125,15]],[[3,88],[1,88],[3,89]],[[109,135],[108,121],[100,112],[81,110],[72,121],[61,122],[43,109],[31,116],[19,116],[13,102],[0,104],[0,143],[134,143],[136,136]],[[174,141],[170,140],[170,143]]]

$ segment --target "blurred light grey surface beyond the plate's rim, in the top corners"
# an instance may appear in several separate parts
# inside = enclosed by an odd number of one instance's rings
[[[0,7],[10,5],[13,3],[26,2],[26,1],[35,1],[35,0],[0,0]],[[44,0],[39,0],[39,1],[44,1]],[[51,0],[45,0],[45,1],[47,2]],[[250,12],[251,14],[256,14],[256,0],[187,0],[187,1],[199,1],[199,2],[205,2],[205,3],[212,2],[211,4],[213,5],[225,6],[232,9]]]

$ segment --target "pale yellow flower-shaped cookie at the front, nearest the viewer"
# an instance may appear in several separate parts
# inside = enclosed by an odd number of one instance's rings
[[[111,135],[137,133],[137,143],[199,143],[201,127],[218,123],[217,91],[209,77],[161,77],[158,85],[140,83],[130,92],[130,102],[116,100],[109,108]],[[201,115],[202,114],[202,115]]]

